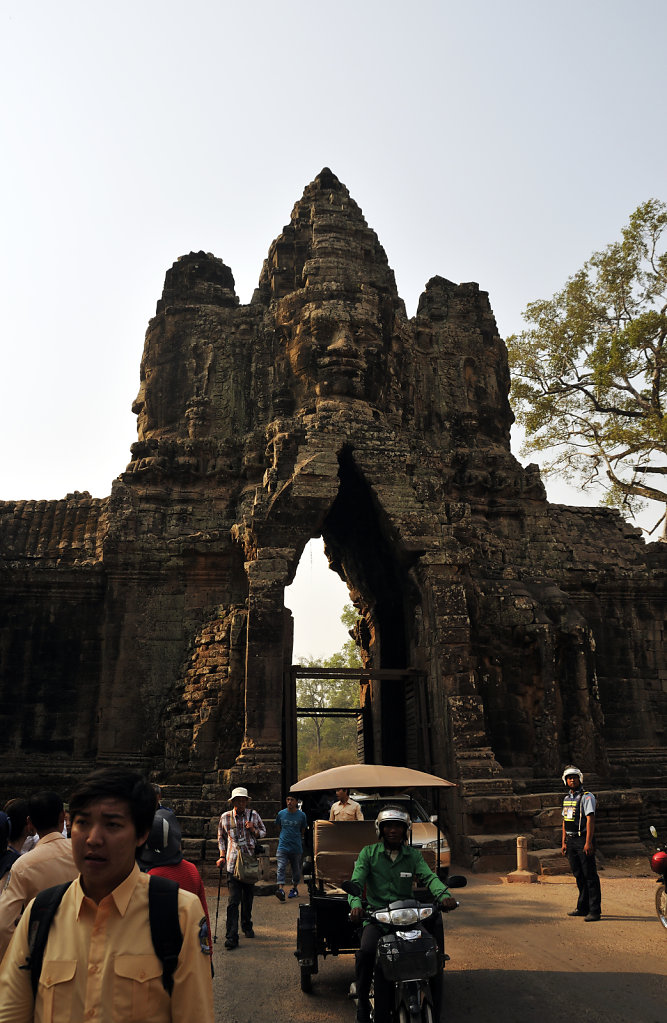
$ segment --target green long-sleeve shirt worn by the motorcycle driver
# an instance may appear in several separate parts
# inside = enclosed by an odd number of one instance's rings
[[[352,881],[366,886],[366,900],[371,909],[381,909],[398,899],[412,898],[412,880],[425,885],[434,899],[447,898],[451,893],[433,873],[418,849],[403,845],[392,859],[384,842],[365,845],[354,864]],[[361,905],[356,895],[348,895],[350,908]]]

